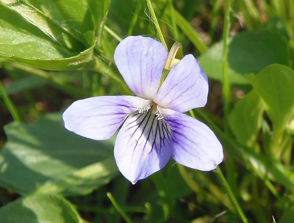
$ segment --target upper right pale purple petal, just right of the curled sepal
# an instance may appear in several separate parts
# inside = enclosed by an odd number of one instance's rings
[[[186,55],[169,72],[154,102],[177,112],[203,107],[207,102],[208,79],[193,55]]]

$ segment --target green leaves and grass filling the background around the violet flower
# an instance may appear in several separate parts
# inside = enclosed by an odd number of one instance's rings
[[[216,133],[223,163],[201,172],[171,160],[131,185],[115,137],[64,129],[73,101],[132,94],[113,53],[126,36],[158,39],[146,1],[0,0],[1,223],[294,222],[294,1],[152,6],[168,49],[181,42],[209,77],[206,107],[188,114]]]

